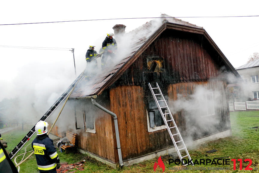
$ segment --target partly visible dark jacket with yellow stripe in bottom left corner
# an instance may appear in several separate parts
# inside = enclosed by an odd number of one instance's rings
[[[0,173],[18,173],[15,165],[0,142]]]

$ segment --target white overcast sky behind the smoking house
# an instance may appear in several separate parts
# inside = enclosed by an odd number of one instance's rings
[[[259,15],[258,6],[259,2],[255,0],[2,1],[0,24],[159,17],[160,14],[168,14],[204,27],[237,68],[246,64],[254,52],[259,52],[259,17],[180,17],[253,16]],[[126,25],[126,32],[129,32],[150,20],[0,25],[0,45],[75,48],[76,71],[80,74],[86,65],[88,46],[96,45],[98,52],[106,33],[113,32],[115,24]],[[0,101],[22,95],[24,98],[31,97],[30,102],[38,100],[39,107],[43,101],[49,106],[75,79],[73,54],[69,50],[0,47],[0,61]]]

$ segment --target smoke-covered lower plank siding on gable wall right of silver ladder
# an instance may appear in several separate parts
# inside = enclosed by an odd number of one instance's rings
[[[211,115],[208,117],[201,117],[199,114],[195,112],[193,116],[196,119],[195,122],[207,120],[207,122],[211,123],[209,126],[204,127],[205,129],[200,129],[199,133],[192,132],[192,128],[186,128],[186,118],[185,115],[187,114],[185,110],[178,111],[176,114],[173,115],[175,122],[178,124],[178,128],[183,137],[190,137],[193,136],[192,139],[202,138],[206,135],[210,135],[216,132],[220,132],[226,129],[231,128],[230,120],[229,120],[229,111],[228,111],[228,99],[226,93],[226,83],[221,80],[212,80],[212,81],[204,81],[204,82],[186,82],[186,83],[176,83],[170,84],[168,86],[168,106],[173,105],[173,102],[179,99],[177,95],[181,97],[188,98],[195,93],[195,88],[198,86],[202,86],[204,90],[211,90],[213,91],[214,95],[214,105],[215,105],[215,115]],[[218,95],[219,94],[219,95]],[[191,107],[191,106],[190,106]],[[173,112],[174,110],[171,110]],[[197,111],[197,110],[195,110]],[[190,114],[189,116],[192,116]],[[188,117],[187,117],[188,118]],[[215,122],[210,122],[215,121]],[[195,126],[195,122],[192,126]],[[210,126],[216,126],[213,131],[207,130]],[[191,127],[191,126],[190,126]]]

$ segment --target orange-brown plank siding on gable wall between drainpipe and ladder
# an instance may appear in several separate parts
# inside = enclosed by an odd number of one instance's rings
[[[172,145],[167,129],[148,132],[144,92],[140,86],[110,90],[111,111],[118,116],[122,159],[127,160]]]

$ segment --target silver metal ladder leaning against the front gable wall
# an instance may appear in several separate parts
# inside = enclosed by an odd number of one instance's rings
[[[188,165],[188,164],[185,164],[182,159],[188,157],[188,159],[191,160],[191,156],[189,155],[189,152],[186,148],[186,145],[183,142],[183,138],[182,138],[182,136],[181,136],[181,134],[178,130],[178,127],[176,126],[174,118],[173,118],[173,116],[172,116],[172,114],[171,114],[171,112],[168,108],[168,105],[165,101],[165,98],[164,98],[158,84],[156,83],[156,87],[154,87],[154,88],[151,87],[150,83],[148,83],[148,86],[151,90],[151,93],[152,93],[154,99],[155,99],[156,105],[157,105],[157,107],[159,109],[159,112],[160,112],[160,114],[161,114],[161,116],[164,120],[165,126],[166,126],[166,128],[167,128],[167,130],[170,134],[170,137],[171,137],[171,139],[174,143],[174,147],[177,151],[178,156],[180,157],[180,160],[182,161],[182,164]],[[165,111],[163,111],[162,109],[166,110],[167,113]],[[178,148],[177,144],[180,144],[180,143],[182,144],[181,145],[182,147]],[[182,156],[182,154],[181,154],[183,151],[185,151],[184,156]],[[192,161],[191,161],[191,163],[192,163]],[[193,163],[192,163],[192,165],[193,165]]]

